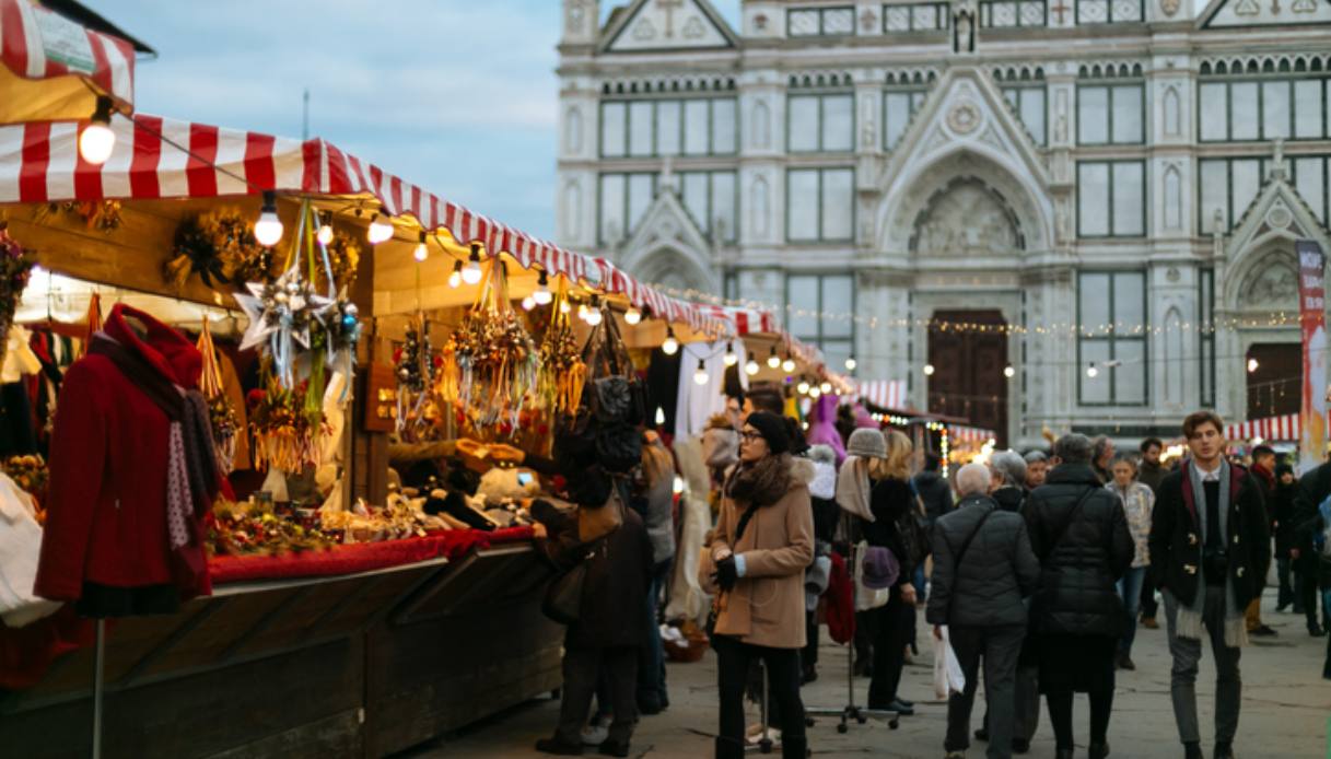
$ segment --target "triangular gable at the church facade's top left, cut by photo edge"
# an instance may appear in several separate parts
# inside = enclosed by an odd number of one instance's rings
[[[708,0],[636,0],[606,29],[602,51],[717,49],[737,41]]]

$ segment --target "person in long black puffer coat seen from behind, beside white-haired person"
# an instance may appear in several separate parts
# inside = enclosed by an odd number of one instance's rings
[[[1073,755],[1073,694],[1090,696],[1091,759],[1109,755],[1114,654],[1123,634],[1115,583],[1133,562],[1133,537],[1118,498],[1091,469],[1091,443],[1054,443],[1058,466],[1026,499],[1026,530],[1041,563],[1032,621],[1040,635],[1040,688],[1054,727],[1055,756]]]

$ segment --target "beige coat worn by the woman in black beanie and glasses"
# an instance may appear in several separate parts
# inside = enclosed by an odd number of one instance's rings
[[[743,506],[723,495],[721,514],[699,562],[699,582],[716,593],[716,561],[729,550],[744,557],[744,577],[717,601],[716,632],[771,648],[803,648],[804,570],[813,563],[813,511],[809,482],[813,463],[791,459],[791,487],[780,499],[753,511],[744,535],[735,533]]]

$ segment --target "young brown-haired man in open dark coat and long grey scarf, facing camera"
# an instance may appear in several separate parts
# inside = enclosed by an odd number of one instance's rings
[[[1234,758],[1244,610],[1262,591],[1271,529],[1260,483],[1225,459],[1225,423],[1213,411],[1183,419],[1191,459],[1159,486],[1151,519],[1151,582],[1165,597],[1174,658],[1170,692],[1186,759],[1202,759],[1197,670],[1202,636],[1215,656],[1214,759]]]

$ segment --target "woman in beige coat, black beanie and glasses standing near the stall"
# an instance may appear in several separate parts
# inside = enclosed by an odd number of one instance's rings
[[[744,686],[749,663],[767,664],[781,715],[781,755],[804,759],[800,648],[804,570],[813,562],[813,463],[793,458],[787,421],[749,414],[740,433],[740,462],[723,486],[721,513],[700,582],[717,590],[716,648],[720,690],[717,759],[744,755]]]

